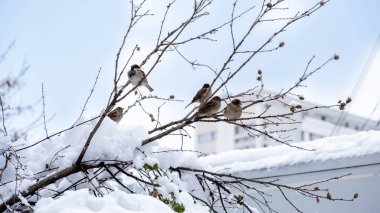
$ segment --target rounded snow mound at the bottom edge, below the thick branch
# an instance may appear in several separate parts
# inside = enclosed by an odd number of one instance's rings
[[[37,202],[34,210],[36,213],[173,212],[169,206],[151,196],[116,190],[104,197],[94,197],[87,189],[67,191],[56,200],[43,198]]]

